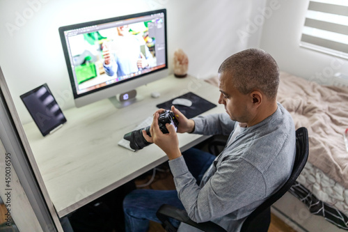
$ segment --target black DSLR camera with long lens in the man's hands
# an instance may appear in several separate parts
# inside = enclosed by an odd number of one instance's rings
[[[177,128],[177,125],[179,124],[177,122],[177,119],[175,118],[175,115],[172,111],[166,110],[163,113],[159,114],[158,118],[158,125],[159,130],[161,130],[162,133],[168,134],[168,130],[166,128],[166,123],[172,124]],[[129,146],[134,150],[140,150],[144,148],[145,146],[148,146],[148,141],[145,140],[143,137],[143,130],[145,130],[146,134],[151,137],[150,134],[150,125],[145,128],[141,128],[139,130],[133,130],[132,132],[129,132],[123,136],[123,139],[126,139],[129,141]]]

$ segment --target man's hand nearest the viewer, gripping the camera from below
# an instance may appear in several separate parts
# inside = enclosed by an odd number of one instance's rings
[[[143,130],[143,137],[149,143],[155,143],[159,148],[161,148],[169,160],[174,160],[177,157],[181,156],[180,148],[179,148],[179,140],[177,139],[177,133],[175,132],[175,127],[169,123],[166,124],[166,128],[168,130],[168,134],[163,134],[161,130],[159,130],[158,118],[159,113],[164,109],[159,109],[156,111],[155,116],[152,121],[152,125],[150,127],[151,137],[146,134],[145,130]]]

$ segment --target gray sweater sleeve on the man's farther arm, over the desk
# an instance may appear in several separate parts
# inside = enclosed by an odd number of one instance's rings
[[[194,134],[224,134],[228,135],[235,128],[235,121],[228,114],[209,114],[192,118],[195,122]]]

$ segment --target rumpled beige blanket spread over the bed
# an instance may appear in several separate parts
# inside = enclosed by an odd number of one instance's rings
[[[207,82],[217,85],[216,78]],[[296,129],[307,127],[308,162],[348,189],[348,87],[321,86],[280,72],[280,102],[294,118]],[[320,178],[320,177],[317,177]]]

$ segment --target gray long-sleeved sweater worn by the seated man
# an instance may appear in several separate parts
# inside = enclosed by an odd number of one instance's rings
[[[233,134],[228,114],[198,116],[196,134]],[[169,161],[178,196],[195,222],[212,221],[239,231],[246,217],[289,178],[295,157],[295,128],[289,112],[278,109],[264,121],[241,127],[196,184],[183,157]],[[199,231],[180,224],[179,231]]]

